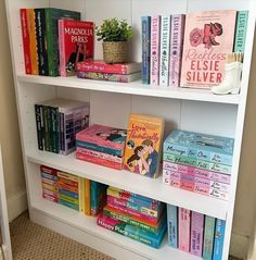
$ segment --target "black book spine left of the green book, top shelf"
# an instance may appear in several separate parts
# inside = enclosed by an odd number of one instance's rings
[[[48,55],[46,46],[46,15],[44,9],[35,9],[37,54],[39,75],[48,75]]]

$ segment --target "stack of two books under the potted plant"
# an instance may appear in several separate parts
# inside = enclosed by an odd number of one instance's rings
[[[77,77],[129,83],[141,78],[141,63],[107,64],[102,60],[76,63]]]

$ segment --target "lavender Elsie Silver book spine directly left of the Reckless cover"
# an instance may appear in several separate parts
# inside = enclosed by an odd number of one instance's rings
[[[171,15],[169,86],[180,86],[181,54],[184,35],[184,15]]]

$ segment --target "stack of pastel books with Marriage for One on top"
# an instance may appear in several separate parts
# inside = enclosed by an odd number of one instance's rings
[[[233,145],[233,138],[174,131],[164,141],[163,182],[228,200]]]

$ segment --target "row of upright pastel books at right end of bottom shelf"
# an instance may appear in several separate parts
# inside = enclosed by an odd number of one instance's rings
[[[204,260],[222,259],[225,221],[167,205],[167,226],[170,247]]]

